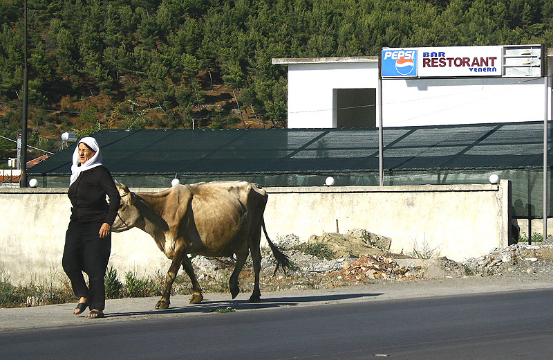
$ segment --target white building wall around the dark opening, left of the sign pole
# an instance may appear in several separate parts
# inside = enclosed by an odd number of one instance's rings
[[[332,90],[377,88],[378,62],[332,62],[288,66],[288,128],[329,128]]]

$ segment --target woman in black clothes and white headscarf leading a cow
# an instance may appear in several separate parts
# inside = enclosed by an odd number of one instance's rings
[[[82,138],[73,152],[67,195],[72,208],[62,264],[75,296],[79,297],[74,314],[81,314],[89,307],[91,312],[87,318],[102,318],[111,225],[117,215],[120,196],[110,172],[102,165],[102,153],[95,138]],[[82,271],[88,275],[89,287]]]

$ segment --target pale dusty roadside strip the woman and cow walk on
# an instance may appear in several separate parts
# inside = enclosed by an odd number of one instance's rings
[[[0,309],[0,331],[29,330],[44,327],[64,327],[109,323],[113,321],[149,321],[153,319],[197,316],[216,310],[236,309],[258,311],[288,306],[313,306],[333,303],[352,303],[459,296],[500,291],[522,291],[553,288],[548,276],[470,276],[413,281],[375,281],[372,284],[337,287],[335,289],[289,290],[263,292],[261,303],[250,304],[250,294],[239,294],[231,300],[230,294],[204,294],[203,303],[189,304],[188,295],[171,297],[171,307],[155,310],[158,298],[124,298],[106,300],[106,317],[89,319],[84,314],[75,316],[75,304],[44,305],[37,307]]]

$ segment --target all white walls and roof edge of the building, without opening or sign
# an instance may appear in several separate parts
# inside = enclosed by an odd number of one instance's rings
[[[378,62],[368,57],[274,59],[273,64],[288,66],[289,128],[336,127],[333,89],[377,88]],[[546,90],[541,78],[382,82],[385,127],[541,121],[546,103],[551,119],[551,84]]]

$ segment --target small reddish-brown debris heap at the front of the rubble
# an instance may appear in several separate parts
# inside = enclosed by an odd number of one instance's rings
[[[344,261],[344,268],[337,271],[336,275],[348,281],[359,281],[365,278],[415,280],[422,277],[418,271],[420,267],[399,266],[392,258],[365,255],[353,262]]]

